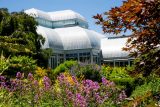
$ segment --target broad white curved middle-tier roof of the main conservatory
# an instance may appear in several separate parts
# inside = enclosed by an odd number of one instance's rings
[[[37,32],[45,37],[43,48],[58,50],[100,49],[100,40],[104,35],[78,26],[67,28],[37,27]]]

